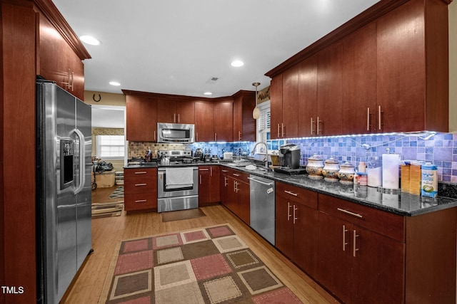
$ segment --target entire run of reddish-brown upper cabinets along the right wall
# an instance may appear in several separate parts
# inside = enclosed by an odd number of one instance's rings
[[[448,4],[380,1],[266,73],[271,138],[448,132]]]

